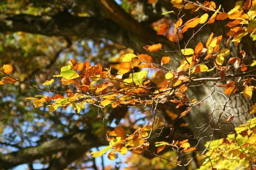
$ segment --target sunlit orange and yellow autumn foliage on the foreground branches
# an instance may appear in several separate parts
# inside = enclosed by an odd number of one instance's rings
[[[154,4],[155,1],[148,3]],[[156,138],[152,143],[151,138],[156,132],[161,134],[161,129],[167,121],[157,111],[159,105],[172,103],[176,109],[183,108],[183,111],[173,119],[175,122],[181,117],[186,117],[195,107],[200,107],[205,100],[214,100],[215,93],[221,93],[225,96],[226,103],[223,103],[221,108],[212,108],[212,117],[209,116],[212,120],[212,129],[221,130],[220,124],[232,124],[233,119],[237,118],[225,110],[226,107],[231,107],[232,98],[240,96],[252,101],[255,90],[255,79],[252,75],[256,72],[256,61],[248,60],[243,49],[237,54],[231,53],[229,44],[239,45],[245,36],[255,40],[256,1],[238,1],[236,6],[226,12],[222,11],[221,5],[217,6],[209,1],[198,4],[186,0],[172,0],[170,5],[175,10],[163,13],[163,16],[174,15],[177,19],[173,24],[160,25],[156,34],[164,36],[173,29],[175,36],[178,37],[175,42],[177,51],[167,51],[161,43],[141,46],[145,54],[122,55],[119,69],[115,74],[111,72],[112,67],[105,68],[100,63],[71,59],[67,65],[60,68],[58,75],[54,75],[51,80],[45,81],[39,87],[13,77],[12,72],[15,70],[12,65],[5,64],[1,69],[3,78],[0,85],[15,85],[15,82],[20,82],[50,92],[26,98],[31,100],[36,108],[47,105],[50,113],[57,111],[58,108],[71,107],[79,114],[87,105],[95,105],[99,110],[120,106],[136,107],[141,114],[148,115],[147,122],[144,125],[137,125],[134,129],[121,125],[113,129],[105,128],[109,145],[100,151],[91,152],[92,157],[107,154],[110,160],[115,160],[117,154],[125,155],[128,151],[137,154],[147,152],[174,165],[183,166],[184,160],[180,160],[179,156],[190,156],[186,159],[187,165],[195,158],[195,155],[194,158],[191,156],[195,153],[196,157],[205,156],[205,163],[199,169],[217,169],[218,164],[225,164],[228,159],[237,159],[238,164],[243,164],[244,169],[249,169],[251,162],[255,161],[255,103],[251,103],[250,110],[245,113],[251,116],[247,123],[236,125],[236,128],[224,138],[211,138],[205,144],[205,150],[198,150],[197,143],[192,142],[196,136],[179,135],[172,126],[169,128],[171,140]],[[183,14],[197,14],[199,10],[204,14],[189,20],[183,19]],[[227,33],[209,33],[206,41],[189,43],[206,25],[213,25],[220,20],[227,20]],[[179,43],[182,34],[191,37],[185,44]],[[159,52],[166,52],[167,55],[157,59],[154,53]],[[170,66],[172,62],[179,62],[179,65]],[[54,90],[57,83],[65,90]],[[194,86],[207,86],[212,91],[206,98],[196,99],[193,95],[188,95],[188,91]],[[105,118],[103,112],[102,119]],[[218,112],[218,115],[215,112]],[[155,151],[152,148],[155,148]],[[170,150],[177,154],[176,158],[169,159],[163,156]],[[253,152],[250,152],[252,150]],[[221,168],[229,169],[224,165]]]

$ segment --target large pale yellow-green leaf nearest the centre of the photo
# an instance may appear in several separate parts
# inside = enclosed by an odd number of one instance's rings
[[[144,69],[140,72],[134,72],[130,74],[129,78],[124,79],[123,82],[131,83],[139,86],[146,79],[147,73],[148,73],[148,70],[144,70]]]

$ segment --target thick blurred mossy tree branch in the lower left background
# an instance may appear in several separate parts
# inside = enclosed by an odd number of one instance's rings
[[[70,153],[68,153],[67,156],[70,158],[70,154],[72,154],[73,151],[81,151],[80,154],[77,154],[77,156],[81,156],[85,151],[103,144],[105,144],[104,139],[100,140],[90,132],[81,131],[73,135],[46,141],[36,147],[27,147],[17,152],[0,154],[0,167],[4,169],[15,167],[19,164],[29,163],[35,159],[49,156],[57,152],[69,151]],[[77,156],[73,157],[77,159]],[[67,160],[69,158],[67,158]],[[70,160],[72,161],[73,159]],[[60,162],[60,160],[57,162]],[[63,165],[67,166],[66,163]]]

